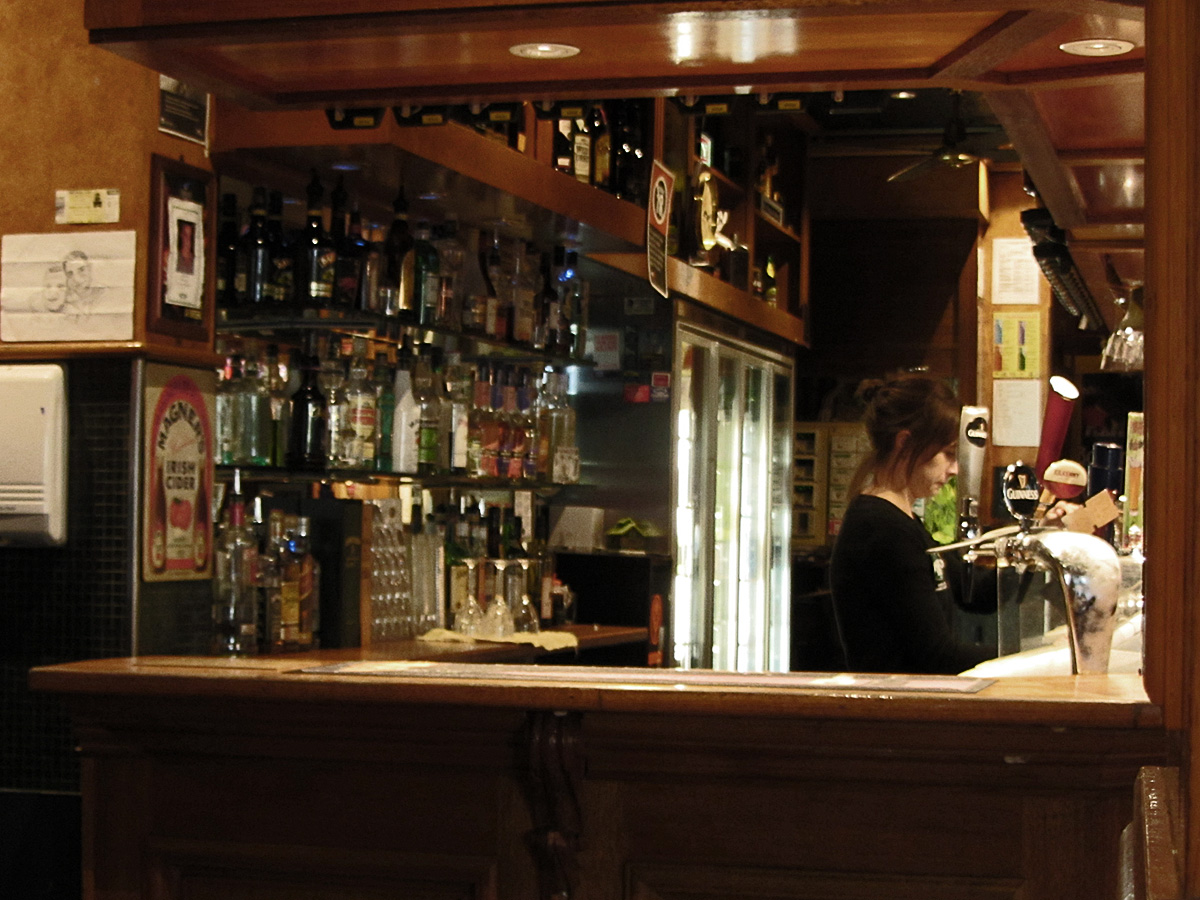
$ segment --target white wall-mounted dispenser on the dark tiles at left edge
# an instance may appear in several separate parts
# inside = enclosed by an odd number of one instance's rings
[[[67,539],[66,372],[0,366],[0,545]]]

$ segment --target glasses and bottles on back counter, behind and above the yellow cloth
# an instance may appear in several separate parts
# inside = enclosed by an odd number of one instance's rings
[[[503,505],[463,497],[452,509],[372,502],[371,637],[403,641],[434,628],[496,638],[574,620],[553,575],[542,508],[526,532]]]

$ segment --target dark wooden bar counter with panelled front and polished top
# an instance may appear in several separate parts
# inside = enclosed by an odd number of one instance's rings
[[[1135,676],[938,679],[347,652],[36,668],[96,900],[1115,898]]]

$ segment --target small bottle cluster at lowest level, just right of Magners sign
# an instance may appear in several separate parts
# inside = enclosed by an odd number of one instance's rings
[[[320,564],[305,516],[271,510],[247,518],[241,473],[234,470],[214,546],[214,652],[245,656],[318,646]]]

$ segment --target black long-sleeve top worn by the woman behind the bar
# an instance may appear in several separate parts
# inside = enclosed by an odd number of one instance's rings
[[[860,494],[851,502],[829,570],[851,671],[946,674],[995,655],[954,636],[952,604],[968,605],[965,566],[955,553],[925,552],[936,545],[889,500]],[[994,608],[994,582],[990,595]]]

